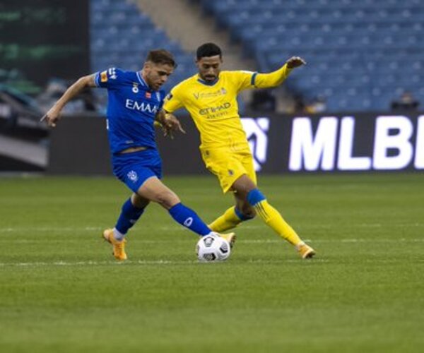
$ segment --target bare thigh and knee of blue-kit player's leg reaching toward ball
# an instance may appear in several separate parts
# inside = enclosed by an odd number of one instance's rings
[[[137,194],[142,198],[159,203],[167,210],[180,202],[177,194],[163,184],[157,177],[151,177],[144,181],[143,185],[141,185],[137,191]]]

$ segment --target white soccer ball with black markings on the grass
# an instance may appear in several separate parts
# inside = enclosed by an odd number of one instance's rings
[[[230,256],[230,244],[218,235],[206,235],[196,244],[197,258],[201,262],[224,261]]]

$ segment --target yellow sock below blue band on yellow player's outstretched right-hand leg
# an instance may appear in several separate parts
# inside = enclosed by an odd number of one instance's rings
[[[298,245],[302,240],[290,225],[281,217],[281,214],[273,208],[268,201],[262,200],[255,205],[257,215],[269,225],[277,234],[293,245]]]

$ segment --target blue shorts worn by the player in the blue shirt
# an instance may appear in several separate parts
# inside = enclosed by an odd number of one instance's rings
[[[113,174],[136,193],[144,181],[151,177],[162,178],[162,160],[159,151],[148,148],[139,152],[112,156]]]

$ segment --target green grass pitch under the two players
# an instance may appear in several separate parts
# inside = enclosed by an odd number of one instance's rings
[[[0,352],[424,352],[424,174],[259,176],[317,250],[252,220],[225,263],[158,205],[129,261],[100,239],[129,196],[112,178],[0,179]],[[212,177],[167,177],[206,221]]]

